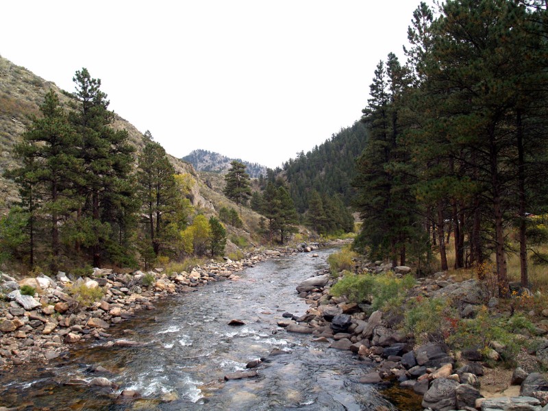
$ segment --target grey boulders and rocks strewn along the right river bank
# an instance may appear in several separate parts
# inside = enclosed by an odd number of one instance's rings
[[[389,264],[380,262],[369,267],[376,273],[392,269]],[[408,267],[395,268],[396,275],[409,271]],[[288,332],[312,334],[313,341],[324,342],[332,349],[355,353],[364,364],[372,367],[372,371],[361,378],[362,383],[397,384],[409,393],[421,396],[421,406],[428,410],[548,411],[545,374],[528,373],[521,367],[515,369],[508,381],[508,385],[516,387],[514,397],[483,390],[482,378],[487,362],[482,354],[473,351],[453,353],[444,344],[413,345],[406,334],[390,327],[391,321],[384,318],[383,312],[377,310],[368,315],[358,304],[348,303],[345,297],[331,297],[329,288],[334,280],[327,270],[319,274],[297,286],[299,297],[310,305],[308,312],[279,325],[286,327]],[[489,300],[479,282],[474,279],[456,282],[444,273],[438,273],[435,278],[419,279],[414,292],[426,298],[451,298],[464,316],[471,315]],[[531,353],[535,356],[534,361],[541,364],[548,354],[548,340],[542,338],[546,334],[544,326],[542,321],[536,328],[539,343]],[[491,356],[494,360],[499,357],[496,349]],[[487,379],[485,383],[489,384]]]

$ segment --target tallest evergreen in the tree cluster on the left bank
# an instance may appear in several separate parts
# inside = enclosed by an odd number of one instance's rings
[[[108,110],[107,95],[101,91],[101,80],[93,79],[87,69],[73,78],[77,102],[71,123],[82,139],[78,158],[82,160],[84,183],[79,186],[83,201],[78,210],[75,237],[92,256],[92,264],[101,266],[101,257],[112,238],[114,208],[128,208],[125,179],[132,170],[134,149],[127,142],[125,130],[111,125],[114,112]],[[125,227],[120,227],[125,229]]]

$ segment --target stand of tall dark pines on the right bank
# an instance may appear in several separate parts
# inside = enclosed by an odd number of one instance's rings
[[[543,1],[420,3],[406,64],[377,64],[362,110],[358,249],[405,264],[435,246],[447,270],[452,234],[456,269],[495,254],[506,295],[515,252],[528,286],[530,213],[547,205],[547,16]]]

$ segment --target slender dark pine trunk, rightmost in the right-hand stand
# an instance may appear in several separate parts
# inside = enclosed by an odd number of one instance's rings
[[[519,190],[519,262],[521,269],[521,286],[529,288],[527,273],[527,221],[525,219],[525,155],[523,153],[523,124],[521,111],[517,110],[517,145],[518,145],[518,190]]]

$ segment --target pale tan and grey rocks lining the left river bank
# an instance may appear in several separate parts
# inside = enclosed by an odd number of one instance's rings
[[[158,299],[192,292],[212,282],[237,281],[237,273],[267,258],[316,248],[317,245],[301,245],[295,249],[260,251],[239,261],[210,262],[190,273],[155,269],[120,274],[94,269],[88,277],[75,278],[60,272],[56,278],[40,274],[18,281],[0,273],[0,288],[7,300],[0,308],[0,366],[9,369],[23,363],[45,364],[68,356],[71,345],[108,340],[110,327],[134,318],[140,310],[154,310]],[[36,289],[36,294],[22,295],[23,286]],[[86,305],[74,295],[76,288],[100,289],[103,296]],[[134,342],[117,340],[110,344],[129,346]]]

